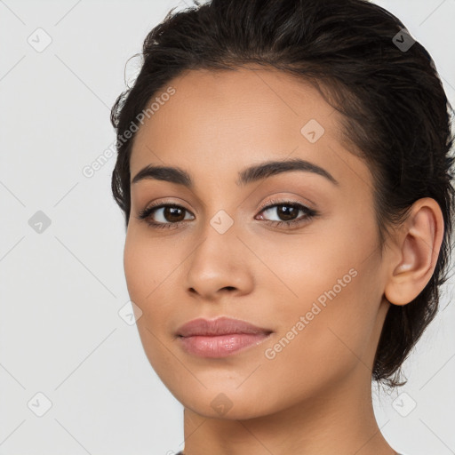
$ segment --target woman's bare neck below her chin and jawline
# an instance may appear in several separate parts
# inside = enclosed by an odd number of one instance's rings
[[[185,409],[185,455],[394,455],[371,401],[371,371],[358,363],[342,382],[254,419],[213,419]]]

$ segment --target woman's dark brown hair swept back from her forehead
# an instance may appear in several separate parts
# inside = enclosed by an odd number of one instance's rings
[[[372,379],[402,386],[401,365],[435,317],[451,257],[453,110],[434,61],[400,20],[365,0],[195,3],[172,10],[150,31],[140,74],[112,108],[118,151],[112,191],[125,228],[135,136],[124,133],[174,77],[254,64],[314,84],[342,114],[346,140],[370,167],[381,252],[388,229],[403,222],[419,198],[434,198],[443,212],[435,272],[416,299],[390,306],[374,360]]]

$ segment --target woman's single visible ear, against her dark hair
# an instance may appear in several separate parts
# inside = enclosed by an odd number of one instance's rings
[[[443,229],[443,212],[435,199],[424,197],[412,204],[392,247],[384,291],[390,303],[405,305],[425,288],[435,271]]]

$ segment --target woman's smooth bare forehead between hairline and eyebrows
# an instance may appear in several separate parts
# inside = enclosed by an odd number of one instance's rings
[[[160,99],[170,87],[172,96]],[[204,172],[236,175],[251,163],[295,156],[337,173],[338,111],[313,85],[283,72],[191,70],[170,81],[148,106],[154,101],[153,115],[136,133],[132,177],[148,164],[195,173],[204,164]]]

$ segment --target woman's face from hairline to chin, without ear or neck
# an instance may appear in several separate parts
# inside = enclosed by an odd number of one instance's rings
[[[339,113],[273,70],[189,71],[169,85],[137,132],[132,180],[152,165],[192,184],[163,172],[132,182],[124,247],[157,375],[188,409],[224,419],[309,403],[340,381],[371,387],[388,307],[371,173],[342,145]],[[309,164],[244,172],[298,159]],[[177,335],[220,316],[265,331]]]

